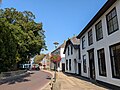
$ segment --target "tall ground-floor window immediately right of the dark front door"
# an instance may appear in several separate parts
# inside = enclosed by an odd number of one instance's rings
[[[106,63],[105,63],[104,49],[98,50],[97,53],[98,53],[99,74],[101,76],[106,76]]]

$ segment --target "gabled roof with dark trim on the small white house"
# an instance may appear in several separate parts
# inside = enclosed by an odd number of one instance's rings
[[[66,52],[67,46],[71,44],[75,49],[78,49],[80,46],[80,39],[77,39],[76,36],[72,37],[71,39],[68,39],[66,41],[65,49],[64,49],[64,54]]]

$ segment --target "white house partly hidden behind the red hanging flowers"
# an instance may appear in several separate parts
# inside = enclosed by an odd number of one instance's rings
[[[58,48],[56,48],[54,51],[51,52],[51,54],[58,54],[61,57],[61,61],[57,63],[57,70],[59,71],[65,71],[65,54],[63,54],[64,47],[66,42],[64,42],[62,45],[60,45]],[[54,69],[54,64],[51,62],[51,69]]]

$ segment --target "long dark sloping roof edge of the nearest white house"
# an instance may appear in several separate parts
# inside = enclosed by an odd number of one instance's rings
[[[82,35],[116,2],[117,0],[108,0],[103,7],[97,12],[97,14],[92,18],[92,20],[86,25],[86,27],[80,32],[77,38],[82,37]]]

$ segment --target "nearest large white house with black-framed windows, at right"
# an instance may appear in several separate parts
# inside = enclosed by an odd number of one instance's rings
[[[77,38],[81,75],[120,86],[120,0],[107,0]]]

